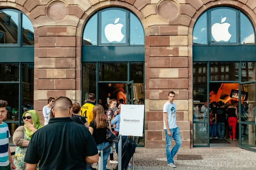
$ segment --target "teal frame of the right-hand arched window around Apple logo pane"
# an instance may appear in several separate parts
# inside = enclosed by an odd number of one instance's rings
[[[236,42],[211,42],[212,41],[212,34],[211,34],[211,12],[217,9],[230,9],[233,11],[236,11]],[[256,45],[256,31],[255,31],[255,27],[253,25],[253,22],[250,20],[250,18],[247,16],[247,14],[245,14],[243,11],[236,9],[236,8],[232,8],[230,6],[221,6],[221,7],[215,7],[215,8],[211,8],[207,11],[205,11],[204,13],[202,13],[198,19],[195,22],[195,25],[193,27],[193,33],[192,36],[194,36],[194,28],[198,22],[198,20],[200,20],[200,17],[203,16],[203,14],[207,14],[207,44],[193,44],[193,46],[225,46],[225,45],[241,45],[241,46],[255,46]],[[245,17],[247,17],[247,19],[250,21],[251,26],[253,27],[253,33],[254,33],[254,44],[241,44],[241,13],[244,14]]]

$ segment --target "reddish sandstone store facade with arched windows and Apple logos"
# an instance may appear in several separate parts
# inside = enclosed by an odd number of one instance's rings
[[[165,148],[163,105],[174,91],[182,147],[254,151],[255,8],[255,0],[1,1],[0,99],[11,136],[26,110],[43,123],[49,97],[83,105],[93,93],[105,111],[110,99],[145,105],[136,143]],[[228,117],[227,138],[217,140],[212,105],[231,100],[237,140]]]

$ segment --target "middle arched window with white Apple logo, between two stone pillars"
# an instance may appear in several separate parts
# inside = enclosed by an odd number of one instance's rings
[[[140,20],[122,8],[107,8],[87,21],[83,45],[144,45]]]

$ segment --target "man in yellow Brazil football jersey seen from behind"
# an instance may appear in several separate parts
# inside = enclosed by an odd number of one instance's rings
[[[88,125],[90,125],[90,122],[93,120],[93,108],[96,105],[95,100],[95,94],[90,93],[87,95],[86,103],[81,107],[80,116],[86,118]]]

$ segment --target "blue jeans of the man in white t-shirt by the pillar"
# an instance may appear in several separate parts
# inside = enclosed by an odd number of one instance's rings
[[[173,157],[176,155],[178,150],[180,149],[180,146],[182,144],[181,137],[180,137],[180,129],[179,127],[175,127],[173,129],[170,129],[171,136],[168,136],[167,130],[164,130],[166,133],[166,157],[167,157],[167,164],[173,163]],[[172,138],[175,141],[174,147],[172,147]]]

